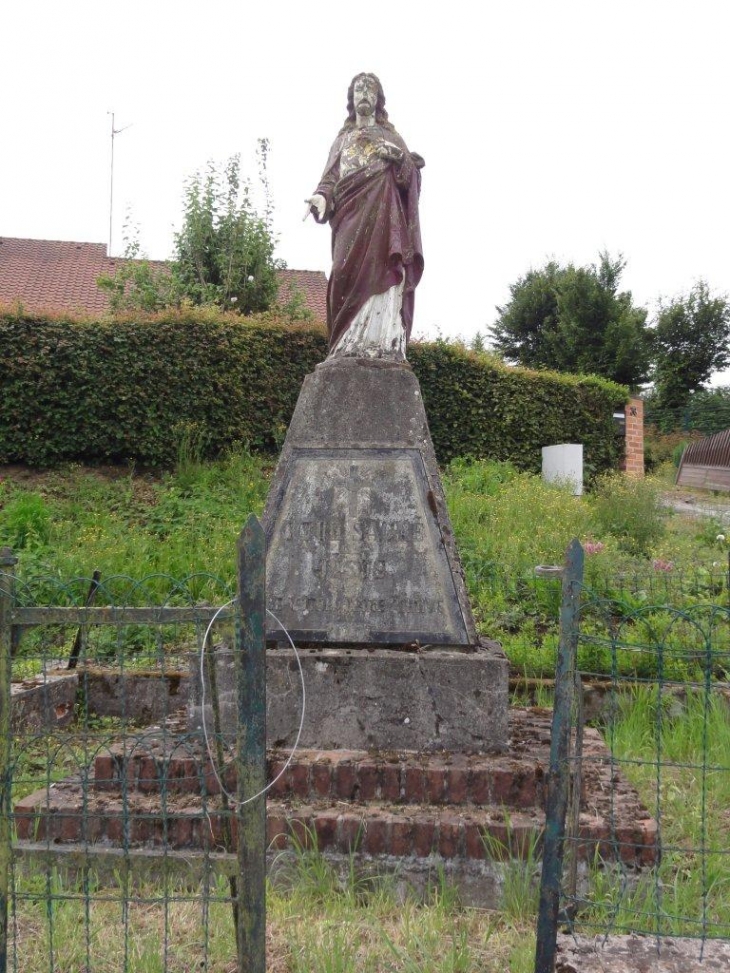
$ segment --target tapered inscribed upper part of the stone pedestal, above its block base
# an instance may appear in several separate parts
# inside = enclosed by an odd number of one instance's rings
[[[410,366],[340,359],[305,379],[263,522],[269,639],[476,645]]]

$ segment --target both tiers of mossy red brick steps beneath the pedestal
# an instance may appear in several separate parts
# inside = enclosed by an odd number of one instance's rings
[[[511,716],[509,755],[298,751],[269,791],[270,847],[316,842],[336,854],[462,862],[524,857],[544,826],[550,715]],[[287,756],[270,753],[269,780]],[[626,781],[612,791],[615,774],[600,735],[586,728],[579,853],[650,864],[656,823]],[[230,762],[223,777],[235,792]],[[612,792],[620,801],[610,802]],[[226,816],[235,834],[201,742],[159,729],[107,747],[86,781],[54,784],[15,808],[20,841],[172,850],[221,850]]]

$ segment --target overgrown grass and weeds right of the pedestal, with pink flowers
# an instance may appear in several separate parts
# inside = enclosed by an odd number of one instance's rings
[[[573,537],[584,543],[588,597],[610,600],[610,613],[620,618],[652,605],[728,604],[730,530],[672,516],[657,482],[606,476],[574,497],[508,464],[465,461],[452,463],[444,480],[478,624],[525,674],[554,671],[560,583],[536,577],[535,567],[561,564]],[[652,624],[659,623],[657,614]],[[643,634],[648,625],[645,620]],[[610,671],[610,651],[582,661],[593,671]],[[656,670],[656,657],[623,653],[622,671],[636,665],[645,675]],[[677,674],[689,669],[679,665]]]

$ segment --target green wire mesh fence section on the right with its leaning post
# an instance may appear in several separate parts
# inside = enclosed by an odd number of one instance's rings
[[[578,541],[562,580],[536,973],[560,929],[730,939],[730,608],[597,597]],[[724,599],[723,599],[724,600]],[[608,679],[606,673],[609,673]],[[606,697],[585,744],[583,686]],[[600,765],[600,767],[599,767]],[[587,838],[601,769],[610,813]],[[608,770],[608,773],[606,773]],[[630,818],[626,795],[638,798]]]

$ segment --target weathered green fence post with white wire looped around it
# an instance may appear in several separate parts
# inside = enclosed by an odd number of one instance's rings
[[[234,663],[238,973],[266,969],[266,538],[251,515],[238,539],[240,637]],[[251,798],[254,798],[251,800]]]

